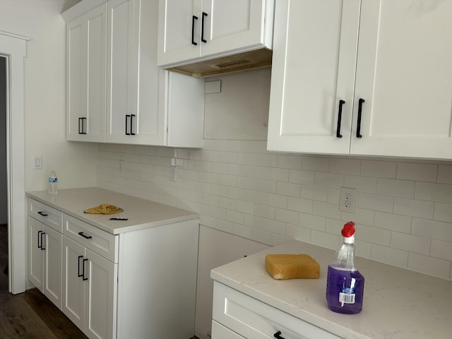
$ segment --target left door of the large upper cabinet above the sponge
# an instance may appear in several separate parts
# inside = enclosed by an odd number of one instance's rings
[[[349,152],[359,2],[276,1],[268,150]]]

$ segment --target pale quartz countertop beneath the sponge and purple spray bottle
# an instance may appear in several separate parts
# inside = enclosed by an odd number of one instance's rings
[[[214,268],[210,277],[341,338],[452,339],[452,281],[364,258],[355,257],[365,279],[362,311],[330,311],[326,273],[334,252],[294,240]],[[266,254],[309,254],[321,276],[275,280],[265,269]]]

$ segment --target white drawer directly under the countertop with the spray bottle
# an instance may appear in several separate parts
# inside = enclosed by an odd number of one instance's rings
[[[212,316],[213,320],[249,339],[275,338],[278,331],[285,339],[339,338],[216,281]]]

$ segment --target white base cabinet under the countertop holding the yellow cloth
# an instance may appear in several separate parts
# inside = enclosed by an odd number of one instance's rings
[[[83,196],[76,194],[76,199],[74,204],[80,206]],[[63,213],[29,199],[30,282],[90,339],[191,338],[199,220],[163,219],[146,228],[142,223],[148,219],[138,218],[138,225],[129,223],[125,232],[112,234],[66,214],[69,205]],[[136,208],[125,201],[121,207]],[[169,206],[160,208],[181,213]],[[109,221],[107,215],[98,217],[96,222],[121,225],[121,220]]]

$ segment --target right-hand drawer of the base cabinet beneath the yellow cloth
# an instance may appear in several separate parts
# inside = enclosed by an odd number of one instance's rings
[[[63,234],[67,237],[113,263],[118,262],[118,236],[66,214],[63,225]]]

